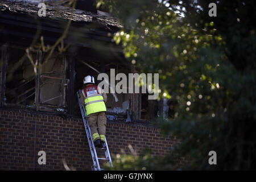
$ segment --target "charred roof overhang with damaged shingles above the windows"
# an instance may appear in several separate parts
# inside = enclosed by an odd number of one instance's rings
[[[76,52],[89,48],[122,55],[122,48],[113,43],[112,36],[109,36],[122,28],[116,18],[84,10],[74,10],[72,14],[71,8],[60,5],[47,5],[46,17],[39,17],[38,10],[38,4],[1,1],[0,32],[4,39],[0,42],[13,41],[16,45],[27,47],[38,33],[38,41],[43,36],[46,43],[52,44],[61,36],[71,19],[64,43],[71,44]],[[39,28],[40,32],[37,32]],[[122,63],[125,62],[123,59]]]

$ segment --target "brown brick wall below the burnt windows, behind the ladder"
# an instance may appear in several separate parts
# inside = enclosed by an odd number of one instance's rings
[[[177,143],[175,138],[160,137],[159,130],[147,123],[108,121],[106,138],[112,156],[129,154],[129,144],[138,153],[151,148],[154,155],[165,155]],[[46,165],[38,164],[42,150]],[[35,170],[64,170],[63,159],[76,170],[90,170],[92,158],[82,119],[0,110],[0,170],[33,170],[34,162]]]

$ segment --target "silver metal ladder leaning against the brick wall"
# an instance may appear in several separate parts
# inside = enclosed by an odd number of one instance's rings
[[[90,147],[90,154],[92,154],[92,160],[93,160],[92,171],[104,170],[104,169],[100,168],[100,164],[98,162],[99,160],[106,160],[110,164],[110,166],[113,167],[111,156],[109,153],[109,147],[108,147],[108,143],[107,143],[106,139],[105,139],[105,147],[101,148],[101,149],[104,149],[106,158],[98,158],[96,147],[94,146],[94,142],[92,139],[92,133],[90,132],[90,127],[88,125],[85,107],[80,100],[81,90],[79,90],[76,94],[77,94],[77,99],[79,101],[79,107],[80,107],[81,114],[82,114],[82,121],[84,121],[86,136],[87,136],[89,147]]]

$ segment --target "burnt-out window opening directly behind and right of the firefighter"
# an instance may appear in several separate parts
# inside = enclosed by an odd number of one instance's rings
[[[127,78],[129,77],[129,73],[133,72],[130,67],[127,67],[127,65],[91,60],[92,59],[84,59],[76,61],[76,91],[82,89],[82,81],[87,75],[92,75],[96,84],[99,84],[101,80],[97,80],[98,72],[106,73],[109,77],[109,82],[111,69],[114,69],[115,76],[118,73],[124,73]],[[118,80],[115,80],[115,85],[118,82]],[[127,93],[115,92],[117,99],[115,99],[112,93],[107,93],[108,101],[106,102],[106,114],[109,120],[131,121],[131,119],[133,119],[134,121],[149,121],[150,119],[157,117],[159,110],[159,103],[157,100],[148,100],[148,93],[129,93],[128,82],[126,89]],[[116,100],[118,101],[115,102]],[[76,107],[76,114],[79,115],[78,105],[74,107]]]

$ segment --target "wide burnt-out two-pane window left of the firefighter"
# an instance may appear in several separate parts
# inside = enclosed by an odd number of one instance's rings
[[[23,48],[1,50],[1,105],[26,107],[40,111],[68,112],[71,93],[71,59],[67,55],[52,56],[44,61],[41,51],[32,53],[34,68]]]

